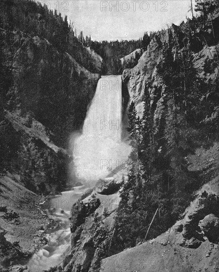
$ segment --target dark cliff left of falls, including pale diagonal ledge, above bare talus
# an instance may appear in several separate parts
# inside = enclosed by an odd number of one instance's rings
[[[100,75],[44,38],[2,29],[1,37],[2,63],[10,74],[2,99],[2,134],[16,138],[13,147],[7,140],[10,156],[2,170],[18,171],[21,182],[35,192],[59,191],[66,184],[70,162],[64,148],[70,133],[82,127]],[[90,56],[100,71],[101,57],[83,48],[87,54],[84,58],[81,54],[80,61]]]

